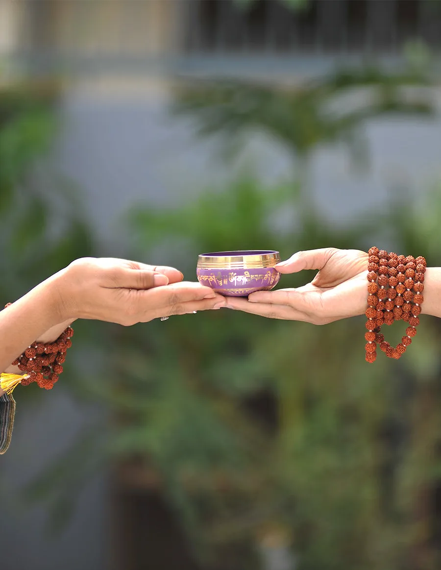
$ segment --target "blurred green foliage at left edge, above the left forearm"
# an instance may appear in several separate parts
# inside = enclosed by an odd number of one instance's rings
[[[17,299],[76,257],[90,255],[91,233],[76,193],[42,165],[57,133],[53,83],[0,89],[0,297]],[[56,184],[54,187],[54,177]]]

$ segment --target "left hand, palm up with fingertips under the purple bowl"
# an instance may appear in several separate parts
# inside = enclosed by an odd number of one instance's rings
[[[179,283],[182,278],[173,267],[77,259],[55,276],[60,322],[80,318],[132,325],[225,303],[211,288]]]

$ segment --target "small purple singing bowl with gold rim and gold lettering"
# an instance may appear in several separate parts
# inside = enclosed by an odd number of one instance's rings
[[[217,251],[198,257],[199,283],[221,295],[246,297],[254,291],[270,291],[279,282],[274,266],[280,261],[278,251]]]

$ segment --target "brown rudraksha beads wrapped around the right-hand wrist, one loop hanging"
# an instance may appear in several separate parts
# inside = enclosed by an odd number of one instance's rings
[[[399,359],[412,342],[419,325],[426,259],[387,253],[378,247],[371,247],[368,254],[366,360],[369,363],[375,361],[377,344],[386,356]],[[397,320],[404,320],[409,326],[401,343],[394,348],[381,334],[381,327]]]

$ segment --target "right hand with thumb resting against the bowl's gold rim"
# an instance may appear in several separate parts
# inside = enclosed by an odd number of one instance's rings
[[[276,269],[280,273],[318,269],[311,283],[296,289],[257,291],[248,300],[230,297],[226,307],[313,324],[362,315],[367,308],[367,257],[364,251],[332,247],[300,251]]]

